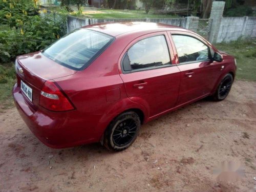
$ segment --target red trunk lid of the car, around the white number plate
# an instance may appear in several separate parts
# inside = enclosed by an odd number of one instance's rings
[[[75,70],[59,65],[42,55],[41,52],[18,56],[15,69],[18,87],[21,88],[21,81],[23,81],[32,89],[32,101],[22,90],[20,91],[24,98],[26,98],[27,103],[34,109],[36,109],[39,104],[41,88],[46,80],[65,77],[76,73]]]

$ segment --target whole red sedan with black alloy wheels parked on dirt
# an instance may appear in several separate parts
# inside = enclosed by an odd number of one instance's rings
[[[225,99],[236,60],[187,29],[105,23],[18,56],[15,68],[16,107],[41,142],[121,151],[142,123],[207,96]]]

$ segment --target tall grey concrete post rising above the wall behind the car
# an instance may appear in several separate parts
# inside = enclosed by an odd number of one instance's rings
[[[224,7],[225,2],[212,2],[210,12],[210,19],[212,19],[212,23],[209,34],[209,41],[213,44],[217,42]]]

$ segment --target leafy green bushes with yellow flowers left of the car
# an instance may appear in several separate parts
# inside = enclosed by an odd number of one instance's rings
[[[65,15],[39,15],[36,0],[0,0],[0,61],[44,49],[66,33]],[[8,6],[9,7],[8,7]],[[12,6],[11,6],[12,5]],[[32,6],[32,7],[31,7]],[[4,26],[4,27],[3,27]]]

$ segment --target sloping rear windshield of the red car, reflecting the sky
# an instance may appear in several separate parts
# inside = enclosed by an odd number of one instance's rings
[[[74,70],[90,65],[112,42],[114,37],[88,29],[76,30],[56,41],[42,54]]]

